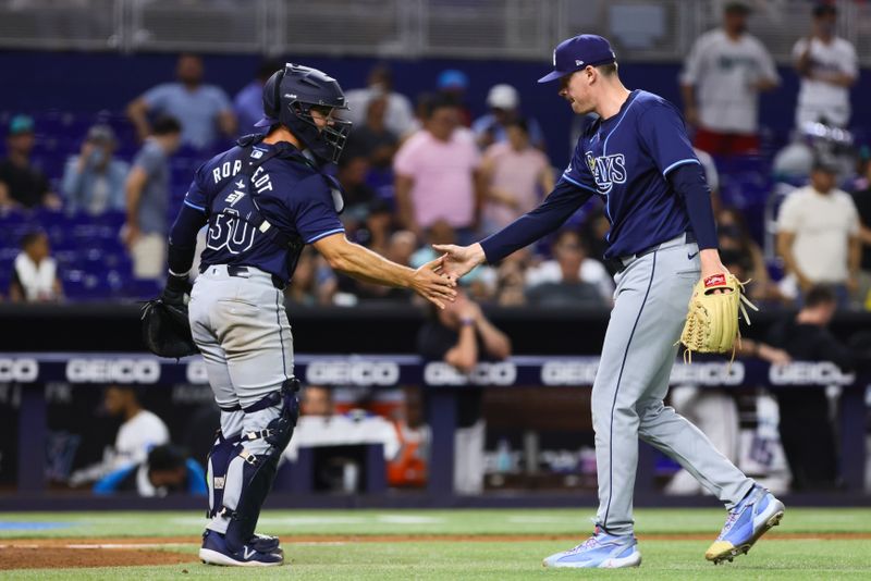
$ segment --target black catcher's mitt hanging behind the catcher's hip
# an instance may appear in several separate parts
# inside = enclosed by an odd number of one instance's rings
[[[143,342],[160,357],[187,357],[199,353],[191,336],[187,306],[155,298],[143,305]]]

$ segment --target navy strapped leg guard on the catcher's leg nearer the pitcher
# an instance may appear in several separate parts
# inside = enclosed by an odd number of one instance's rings
[[[254,536],[279,458],[296,427],[298,391],[299,382],[287,380],[280,392],[269,394],[245,410],[244,429],[226,470],[223,506],[208,527],[225,534],[231,551],[242,549]]]

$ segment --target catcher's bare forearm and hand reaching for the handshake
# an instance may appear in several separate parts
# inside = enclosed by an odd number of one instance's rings
[[[349,242],[344,234],[316,240],[315,248],[333,270],[368,283],[410,288],[441,309],[456,297],[455,279],[443,272],[443,256],[414,270]]]

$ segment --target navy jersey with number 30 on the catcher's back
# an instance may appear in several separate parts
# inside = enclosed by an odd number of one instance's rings
[[[246,148],[236,146],[204,163],[196,172],[184,203],[204,212],[209,222],[200,269],[211,264],[240,264],[260,269],[285,284],[295,262],[293,250],[282,247],[250,223],[238,219],[241,196],[250,195],[262,217],[291,238],[311,244],[344,232],[339,219],[341,198],[331,183],[291,144],[256,144],[250,160],[275,151],[250,180],[247,194],[228,187],[247,160]],[[241,188],[241,186],[240,186]]]

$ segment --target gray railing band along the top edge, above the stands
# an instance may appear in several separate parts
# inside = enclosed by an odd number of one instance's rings
[[[750,32],[780,63],[810,32],[807,0],[756,0]],[[837,0],[838,35],[871,66],[871,4]],[[723,0],[0,0],[0,48],[550,57],[579,32],[623,61],[680,61]]]

